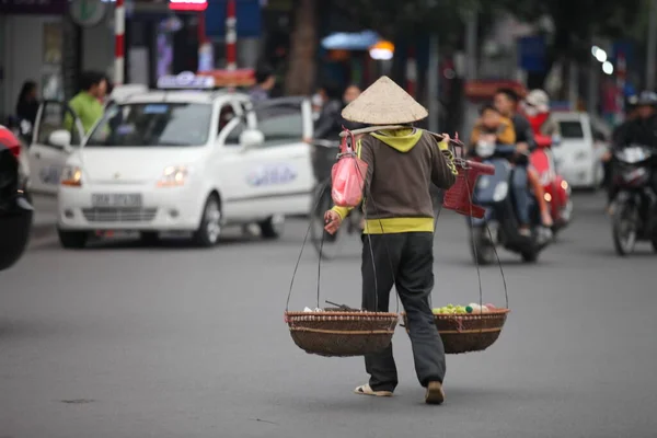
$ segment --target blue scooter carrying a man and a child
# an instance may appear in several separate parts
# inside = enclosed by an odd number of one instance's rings
[[[494,175],[479,177],[473,192],[474,204],[486,210],[483,218],[471,219],[471,251],[474,261],[482,265],[495,262],[497,245],[520,254],[523,262],[533,263],[552,240],[551,230],[541,224],[539,206],[533,197],[530,197],[531,234],[527,237],[519,232],[516,203],[510,191],[515,169],[509,159],[514,153],[514,145],[480,142],[471,158],[495,168]]]

